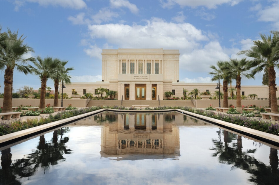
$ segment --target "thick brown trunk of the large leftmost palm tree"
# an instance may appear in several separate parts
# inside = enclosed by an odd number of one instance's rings
[[[4,112],[13,112],[12,105],[12,76],[14,74],[13,68],[7,66],[4,74],[4,99],[3,99],[3,109]]]

